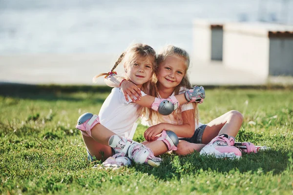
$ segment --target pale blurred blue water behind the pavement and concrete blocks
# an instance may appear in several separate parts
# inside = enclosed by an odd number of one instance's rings
[[[194,18],[293,23],[293,0],[0,0],[0,55],[192,51]]]

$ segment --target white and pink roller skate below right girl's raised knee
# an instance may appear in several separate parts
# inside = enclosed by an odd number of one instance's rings
[[[200,155],[213,155],[216,158],[241,158],[241,151],[233,146],[235,138],[221,134],[213,138],[201,151]]]

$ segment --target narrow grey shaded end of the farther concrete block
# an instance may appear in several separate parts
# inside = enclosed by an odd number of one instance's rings
[[[211,29],[211,56],[212,60],[223,59],[223,29]]]

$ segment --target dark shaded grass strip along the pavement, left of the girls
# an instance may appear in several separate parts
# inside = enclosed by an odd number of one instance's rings
[[[22,99],[43,99],[46,101],[81,101],[84,98],[72,97],[71,93],[110,93],[107,86],[86,86],[86,85],[30,85],[19,83],[1,83],[0,96],[22,98]],[[103,103],[105,98],[91,99],[98,103]]]

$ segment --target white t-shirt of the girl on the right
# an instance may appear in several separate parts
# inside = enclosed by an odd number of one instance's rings
[[[184,93],[186,90],[188,90],[188,89],[185,89],[185,88],[181,87],[179,94]],[[171,96],[174,96],[174,92],[173,92],[173,94]],[[161,97],[159,97],[159,98],[161,98]],[[187,110],[191,110],[191,109],[194,109],[194,108],[193,108],[191,103],[180,105],[180,108],[181,108],[181,113],[178,113],[178,116],[177,116],[178,118],[177,119],[175,119],[174,116],[171,114],[171,115],[160,117],[159,119],[161,119],[161,120],[159,120],[155,116],[154,121],[158,121],[158,123],[165,122],[165,123],[170,123],[170,124],[182,125],[183,124],[182,112],[187,111]],[[141,120],[142,120],[143,125],[148,126],[148,127],[152,126],[150,120],[148,120],[147,117],[142,117]],[[197,129],[198,127],[200,127],[202,125],[203,124],[200,123],[200,122],[198,123],[198,125],[195,124],[195,129]],[[195,129],[194,129],[194,131],[195,131]]]

